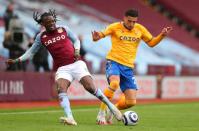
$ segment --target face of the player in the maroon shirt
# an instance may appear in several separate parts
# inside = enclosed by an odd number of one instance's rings
[[[45,16],[43,18],[42,25],[46,28],[47,31],[53,31],[56,29],[55,19],[53,16]]]

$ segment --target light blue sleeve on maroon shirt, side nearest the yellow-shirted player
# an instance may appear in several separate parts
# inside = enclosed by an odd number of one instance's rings
[[[80,49],[80,41],[78,37],[69,29],[69,27],[64,26],[65,30],[67,31],[69,39],[72,41],[73,46],[75,49]]]

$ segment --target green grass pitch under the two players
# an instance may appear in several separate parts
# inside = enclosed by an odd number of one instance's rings
[[[137,105],[139,124],[96,125],[98,106],[72,107],[77,126],[59,123],[61,108],[0,109],[0,131],[199,131],[199,103]],[[123,111],[124,112],[124,111]]]

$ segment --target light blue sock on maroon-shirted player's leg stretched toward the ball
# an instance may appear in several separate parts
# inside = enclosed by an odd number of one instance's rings
[[[102,102],[104,102],[108,108],[112,111],[114,109],[114,105],[109,101],[109,99],[102,93],[102,91],[98,88],[97,91],[94,93],[94,95],[101,100]]]

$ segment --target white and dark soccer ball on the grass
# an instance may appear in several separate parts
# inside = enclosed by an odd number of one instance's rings
[[[122,122],[126,126],[134,126],[138,123],[138,114],[135,111],[126,111],[123,114]]]

